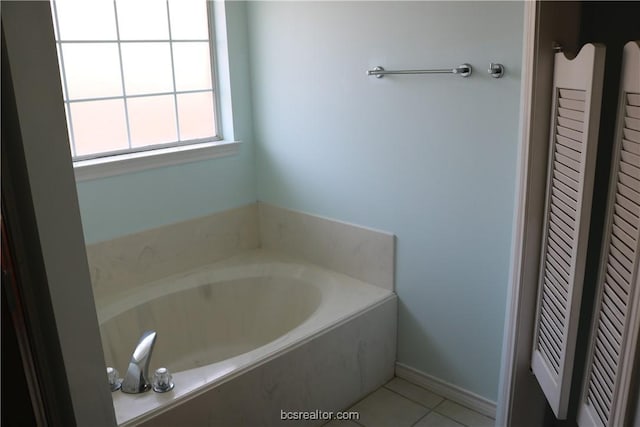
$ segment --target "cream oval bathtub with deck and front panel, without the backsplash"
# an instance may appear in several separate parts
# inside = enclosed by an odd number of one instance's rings
[[[119,425],[291,425],[339,411],[393,375],[395,294],[264,250],[97,302],[107,366],[124,375],[142,332],[168,393],[112,393]],[[308,420],[321,425],[327,419]],[[299,423],[296,423],[299,425]]]

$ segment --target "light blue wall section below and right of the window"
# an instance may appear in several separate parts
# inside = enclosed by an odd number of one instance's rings
[[[256,200],[246,3],[226,5],[238,155],[79,182],[87,243],[184,221]]]

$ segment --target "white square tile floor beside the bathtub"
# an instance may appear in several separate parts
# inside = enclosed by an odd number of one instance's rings
[[[495,421],[401,378],[394,378],[348,411],[357,421],[331,421],[325,427],[493,427]]]

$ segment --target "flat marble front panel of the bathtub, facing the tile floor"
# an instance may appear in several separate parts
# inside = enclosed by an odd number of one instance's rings
[[[393,376],[396,315],[394,295],[139,425],[323,425],[281,420],[280,411],[337,412],[387,382]]]

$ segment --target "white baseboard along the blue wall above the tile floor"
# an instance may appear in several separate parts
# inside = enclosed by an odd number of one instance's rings
[[[419,385],[460,405],[480,412],[491,418],[496,417],[496,403],[457,385],[449,384],[415,368],[396,362],[396,376]]]

